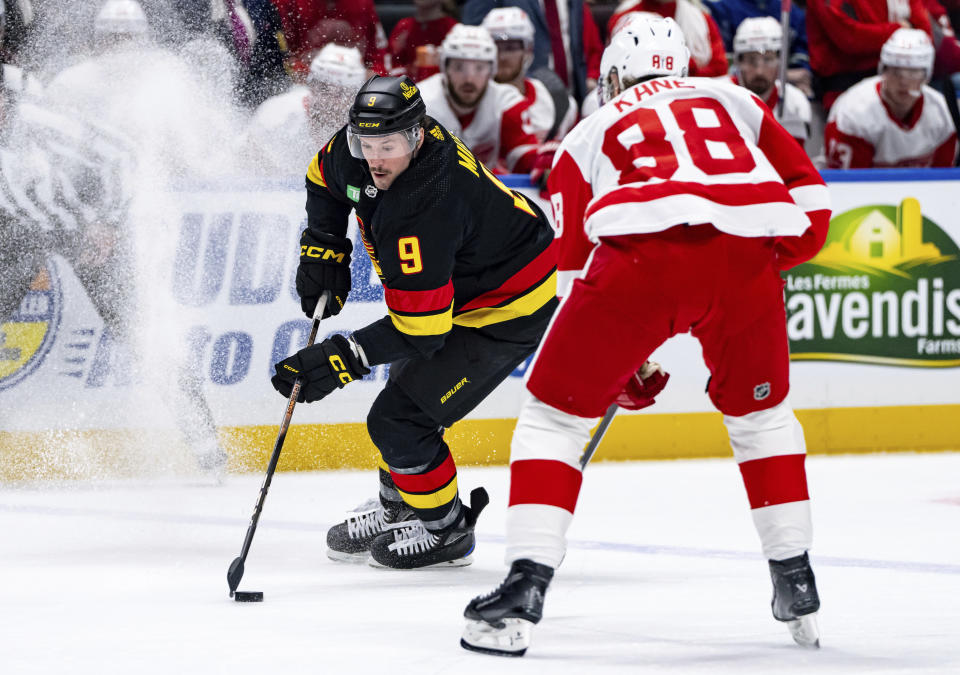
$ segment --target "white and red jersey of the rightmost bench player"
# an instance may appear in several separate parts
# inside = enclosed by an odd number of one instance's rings
[[[946,99],[924,85],[906,120],[896,119],[880,97],[880,76],[844,92],[824,129],[831,168],[953,166],[957,133]]]

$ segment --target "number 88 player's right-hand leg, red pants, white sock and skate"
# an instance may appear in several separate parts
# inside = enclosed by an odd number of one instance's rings
[[[708,392],[724,414],[769,560],[773,615],[788,622],[798,643],[817,646],[814,615],[820,602],[807,553],[813,526],[806,444],[787,401],[790,357],[781,282],[771,269],[742,290],[728,296],[713,314],[716,320],[693,333],[703,345],[711,372]]]

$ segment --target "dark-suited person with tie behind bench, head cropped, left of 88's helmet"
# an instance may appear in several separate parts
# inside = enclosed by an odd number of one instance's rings
[[[495,7],[519,7],[533,22],[533,71],[549,68],[577,103],[597,87],[603,43],[584,0],[466,0],[463,22],[479,26]]]

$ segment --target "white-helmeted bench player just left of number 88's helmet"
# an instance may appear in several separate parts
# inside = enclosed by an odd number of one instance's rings
[[[497,45],[494,81],[512,86],[524,98],[524,129],[541,143],[563,138],[577,121],[577,104],[553,71],[541,69],[527,77],[533,61],[530,17],[519,7],[498,7],[484,17],[483,27]]]

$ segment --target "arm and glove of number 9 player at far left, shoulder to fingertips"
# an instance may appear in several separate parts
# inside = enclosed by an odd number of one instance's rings
[[[340,313],[352,287],[350,254],[353,242],[347,238],[347,219],[352,206],[346,197],[343,169],[353,158],[341,131],[318,152],[307,167],[307,227],[300,235],[300,266],[297,293],[300,307],[313,316],[324,291],[330,301],[323,318]]]

